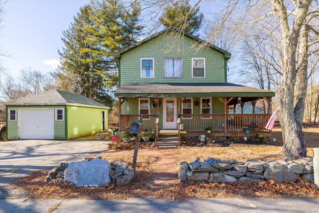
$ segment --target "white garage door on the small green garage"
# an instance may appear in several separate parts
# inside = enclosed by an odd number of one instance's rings
[[[21,109],[19,123],[20,139],[54,139],[53,109]]]

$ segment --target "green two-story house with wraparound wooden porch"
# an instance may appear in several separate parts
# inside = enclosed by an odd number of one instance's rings
[[[227,83],[227,61],[231,54],[186,32],[163,30],[114,55],[119,65],[120,131],[143,115],[143,128],[232,133],[252,125],[266,133],[270,114],[228,114],[228,106],[265,99],[268,90]],[[156,119],[158,117],[159,119]]]

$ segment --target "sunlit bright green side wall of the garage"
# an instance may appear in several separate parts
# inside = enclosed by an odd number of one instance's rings
[[[106,130],[108,129],[108,109],[67,106],[67,139],[102,132],[102,111],[106,111]]]

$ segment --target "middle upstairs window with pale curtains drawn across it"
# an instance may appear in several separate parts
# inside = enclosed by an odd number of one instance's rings
[[[164,78],[182,78],[183,58],[164,58]]]

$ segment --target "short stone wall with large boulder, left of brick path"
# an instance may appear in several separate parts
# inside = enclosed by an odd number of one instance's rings
[[[52,169],[47,176],[47,181],[51,181],[53,179],[57,179],[59,181],[62,181],[66,183],[67,181],[70,181],[77,186],[85,186],[85,185],[92,185],[93,186],[99,186],[99,184],[96,183],[109,183],[113,180],[113,183],[116,186],[127,186],[130,184],[131,180],[135,177],[134,171],[132,169],[129,169],[129,162],[123,161],[123,160],[114,160],[110,164],[108,161],[103,161],[104,164],[107,165],[105,171],[101,171],[102,173],[99,174],[93,174],[92,172],[85,172],[83,170],[88,169],[87,166],[93,166],[93,165],[84,165],[82,162],[85,161],[92,161],[93,159],[100,159],[102,160],[102,157],[86,157],[81,162],[75,162],[72,163],[72,168],[69,168],[71,171],[68,172],[68,175],[66,178],[65,176],[65,170],[68,168],[69,163],[61,163],[60,166],[55,167]],[[95,160],[94,160],[95,161]],[[93,162],[93,161],[92,161]],[[73,165],[78,164],[78,165]],[[97,166],[101,166],[100,162],[97,162]],[[82,173],[83,171],[83,173]],[[98,169],[97,169],[98,171]],[[87,175],[87,177],[85,177]],[[106,175],[106,176],[105,176]],[[93,176],[93,177],[92,177]],[[102,178],[104,177],[104,178]],[[79,181],[81,179],[81,181]]]

